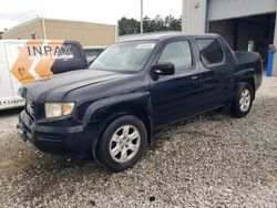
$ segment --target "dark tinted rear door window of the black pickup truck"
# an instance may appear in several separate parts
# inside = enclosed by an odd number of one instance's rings
[[[197,39],[196,41],[205,66],[213,66],[223,62],[223,50],[216,39]]]

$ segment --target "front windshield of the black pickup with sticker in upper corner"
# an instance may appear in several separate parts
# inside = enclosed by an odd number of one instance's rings
[[[105,49],[90,69],[115,72],[137,72],[146,63],[155,42],[117,43]]]

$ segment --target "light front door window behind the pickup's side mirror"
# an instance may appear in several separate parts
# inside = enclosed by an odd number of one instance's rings
[[[171,62],[175,66],[175,72],[182,72],[189,70],[192,66],[192,52],[188,41],[177,41],[168,43],[162,55],[158,59],[158,63]]]

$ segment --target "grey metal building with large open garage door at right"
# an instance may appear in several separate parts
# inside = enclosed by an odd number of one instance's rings
[[[183,0],[185,33],[219,33],[234,50],[257,51],[267,61],[277,46],[277,0]],[[277,75],[277,55],[274,59]]]

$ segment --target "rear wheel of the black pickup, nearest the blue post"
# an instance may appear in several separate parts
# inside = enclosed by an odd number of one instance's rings
[[[230,115],[237,118],[246,116],[250,110],[254,100],[254,91],[248,83],[238,83],[236,97],[230,104]]]

